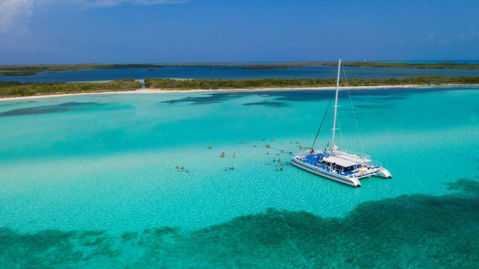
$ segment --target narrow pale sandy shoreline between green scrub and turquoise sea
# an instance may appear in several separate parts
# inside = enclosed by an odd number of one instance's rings
[[[445,85],[387,85],[387,86],[357,86],[357,87],[339,87],[340,90],[345,89],[384,89],[384,88],[410,88],[410,87],[451,87],[451,86],[479,86],[479,84],[445,84]],[[75,94],[51,94],[51,95],[35,95],[20,97],[0,98],[1,101],[14,101],[34,98],[48,98],[73,95],[95,95],[95,94],[157,94],[157,93],[192,93],[192,92],[255,92],[255,91],[283,91],[283,90],[333,90],[336,87],[313,87],[313,88],[256,88],[256,89],[218,89],[218,90],[164,90],[164,89],[137,89],[134,91],[119,92],[92,92],[92,93],[75,93]]]

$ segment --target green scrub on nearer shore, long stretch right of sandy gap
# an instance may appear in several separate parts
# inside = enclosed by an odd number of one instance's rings
[[[444,84],[479,84],[479,77],[414,77],[414,78],[385,78],[385,79],[349,79],[340,81],[340,86],[384,86],[384,85],[444,85]],[[222,80],[222,79],[145,79],[146,88],[157,89],[248,89],[248,88],[306,88],[332,87],[335,79],[251,79],[251,80]]]

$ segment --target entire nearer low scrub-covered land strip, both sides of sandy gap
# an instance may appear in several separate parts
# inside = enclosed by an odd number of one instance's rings
[[[349,79],[340,87],[403,87],[426,85],[479,85],[479,77],[413,77],[389,79]],[[19,83],[0,82],[0,98],[48,96],[80,93],[158,93],[192,90],[255,90],[255,89],[329,89],[335,79],[145,79],[146,89],[134,79],[110,82]],[[5,100],[5,99],[3,99]]]

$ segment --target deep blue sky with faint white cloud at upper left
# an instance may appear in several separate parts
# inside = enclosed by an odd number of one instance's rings
[[[0,64],[479,58],[479,1],[0,0]]]

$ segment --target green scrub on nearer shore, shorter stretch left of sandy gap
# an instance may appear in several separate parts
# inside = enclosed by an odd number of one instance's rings
[[[0,82],[1,97],[17,97],[49,94],[129,91],[141,88],[134,79],[114,80],[105,83],[25,83]]]

